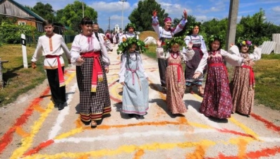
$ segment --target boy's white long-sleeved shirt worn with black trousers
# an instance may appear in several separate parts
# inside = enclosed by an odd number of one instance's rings
[[[37,47],[32,56],[31,61],[38,61],[39,57],[43,55],[61,56],[63,52],[66,53],[67,59],[71,59],[71,54],[66,46],[64,39],[61,35],[54,34],[51,37],[47,35],[42,35],[38,39]],[[64,66],[63,57],[59,57],[61,66]],[[57,60],[56,58],[45,58],[44,59],[44,69],[57,69]]]

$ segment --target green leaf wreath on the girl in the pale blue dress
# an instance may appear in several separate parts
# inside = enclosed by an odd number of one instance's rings
[[[140,54],[146,52],[147,49],[145,48],[145,42],[136,39],[136,37],[129,37],[128,39],[123,39],[123,42],[118,45],[116,53],[123,54],[124,52],[127,52],[133,44],[136,45],[136,51]]]

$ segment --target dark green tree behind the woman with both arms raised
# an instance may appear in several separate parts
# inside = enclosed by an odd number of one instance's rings
[[[168,16],[160,4],[155,0],[143,0],[138,2],[138,8],[135,8],[128,19],[137,26],[136,31],[153,30],[152,29],[152,11],[157,11],[159,24],[164,24],[164,18]]]

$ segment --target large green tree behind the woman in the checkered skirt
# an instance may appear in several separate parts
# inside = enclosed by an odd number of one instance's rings
[[[84,15],[97,22],[97,11],[84,4]],[[56,20],[63,25],[70,27],[76,33],[80,33],[80,20],[83,18],[83,3],[74,1],[65,8],[56,12]]]

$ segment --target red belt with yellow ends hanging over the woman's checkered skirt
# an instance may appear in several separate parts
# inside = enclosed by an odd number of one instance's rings
[[[84,52],[80,54],[81,57],[93,58],[92,64],[92,88],[91,92],[97,92],[97,81],[103,81],[103,72],[99,61],[100,52]]]

